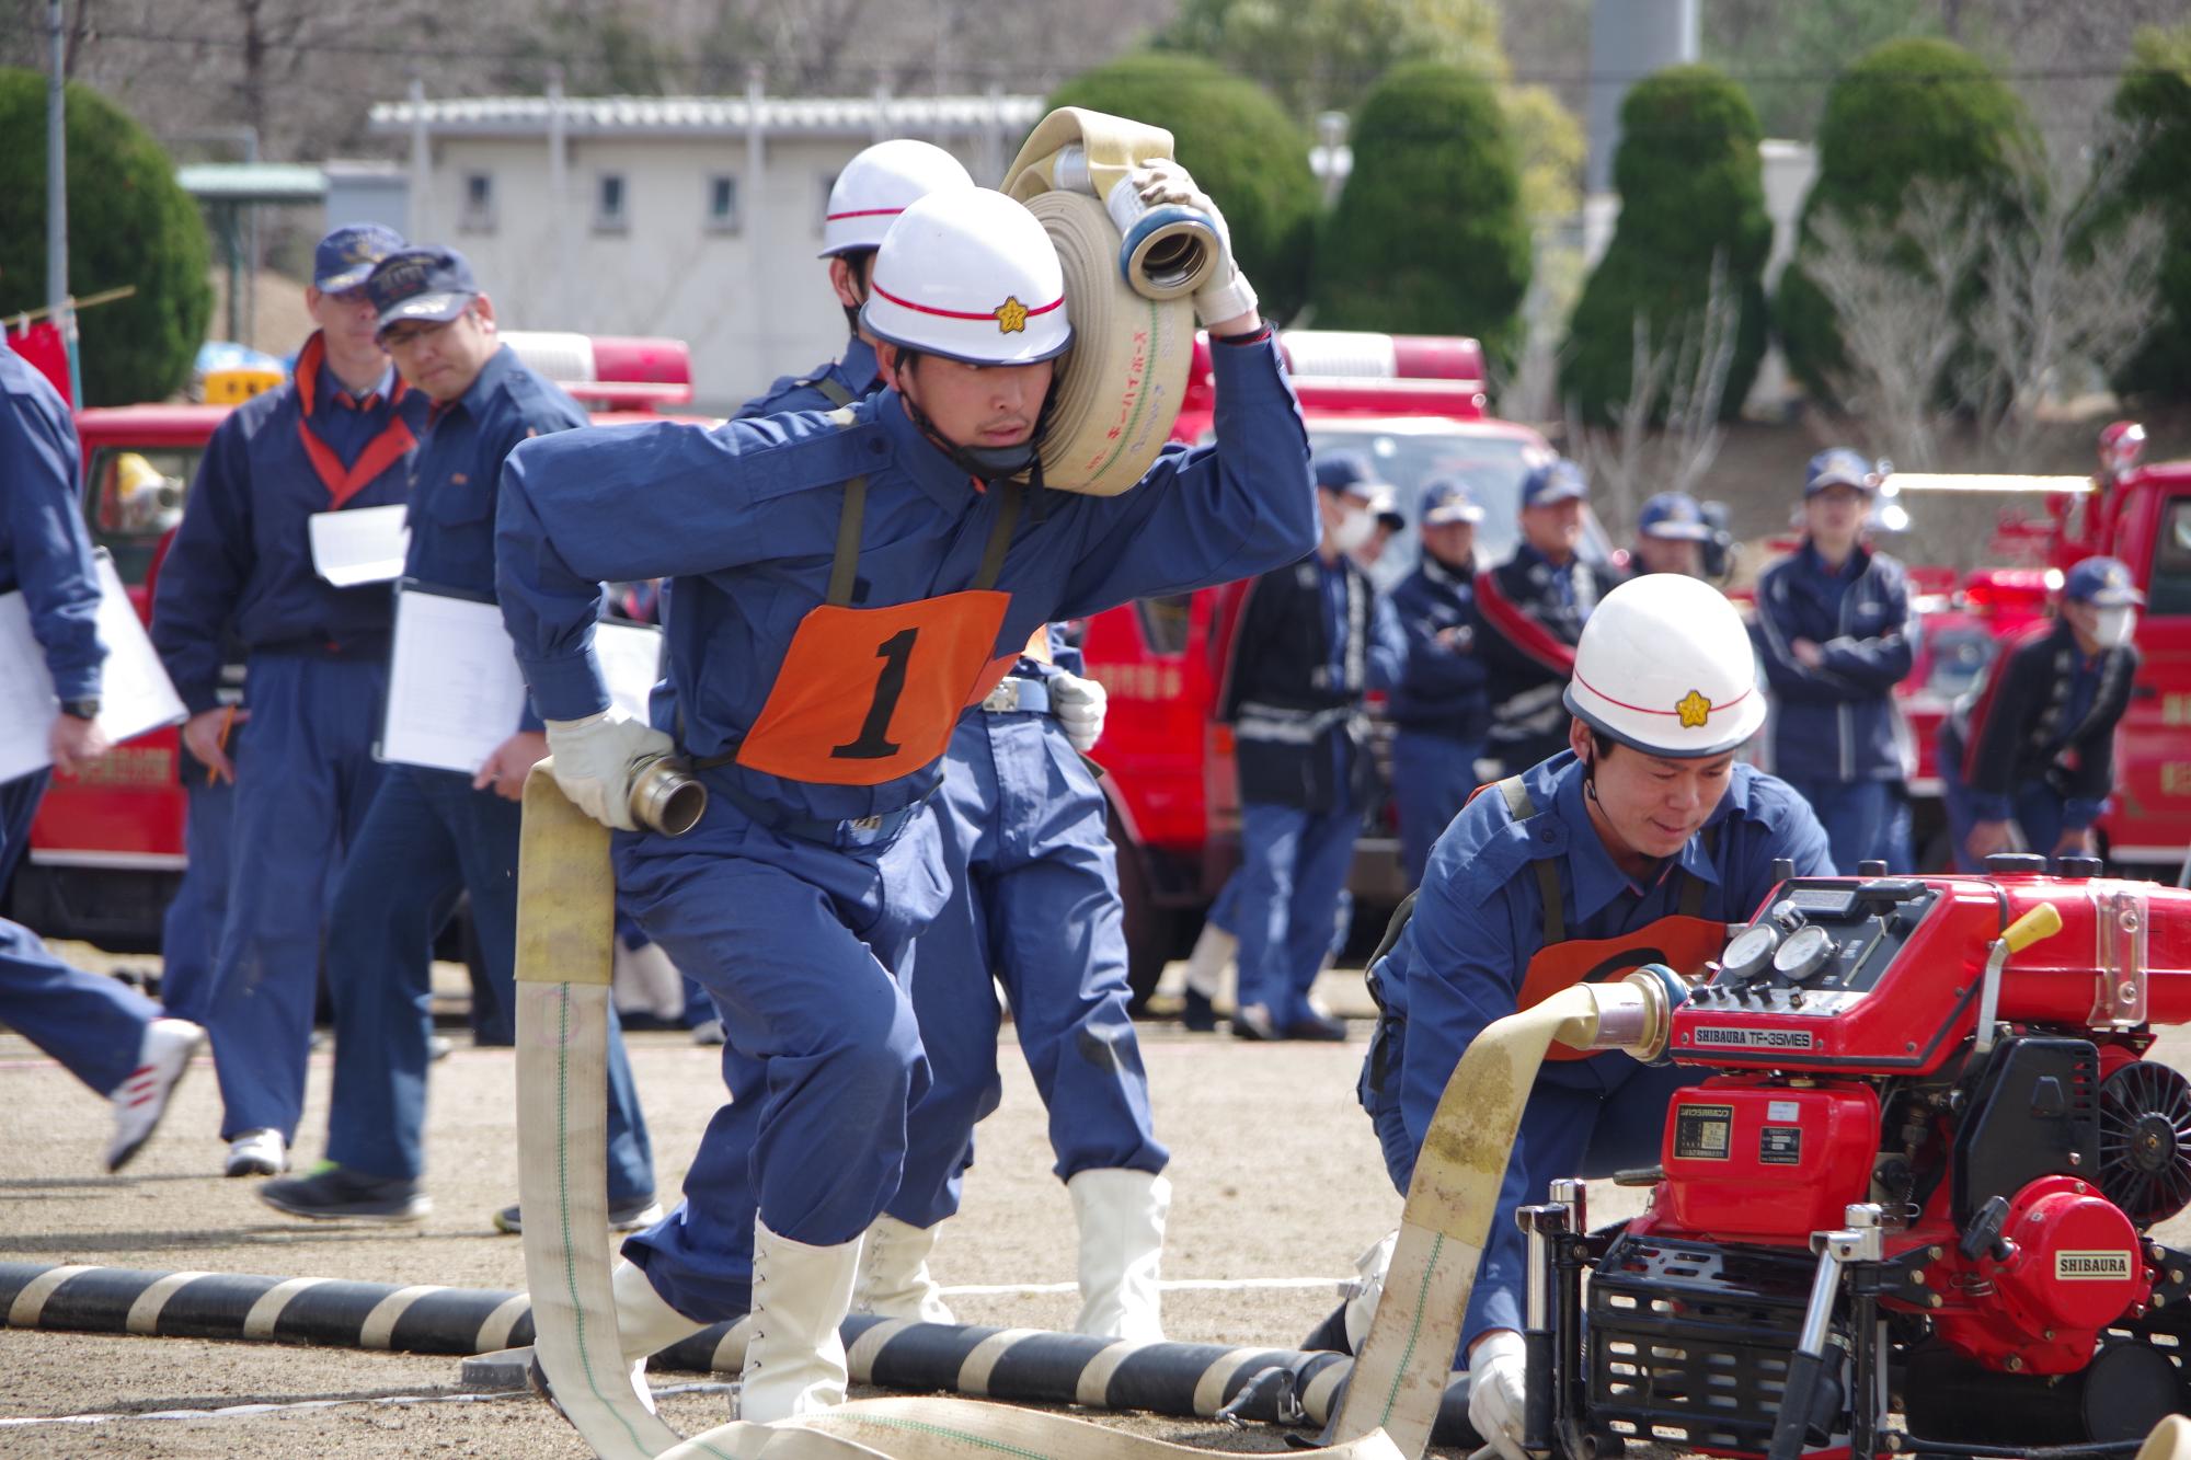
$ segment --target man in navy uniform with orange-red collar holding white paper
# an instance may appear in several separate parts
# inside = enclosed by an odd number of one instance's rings
[[[388,590],[322,579],[309,522],[405,498],[425,399],[375,342],[362,287],[401,248],[377,224],[320,239],[305,289],[318,329],[285,386],[215,427],[153,594],[151,638],[191,712],[182,741],[206,776],[237,785],[228,905],[204,993],[228,1175],[289,1164],[326,888],[381,783],[372,737],[388,686]],[[245,651],[243,710],[219,697],[230,638]]]

